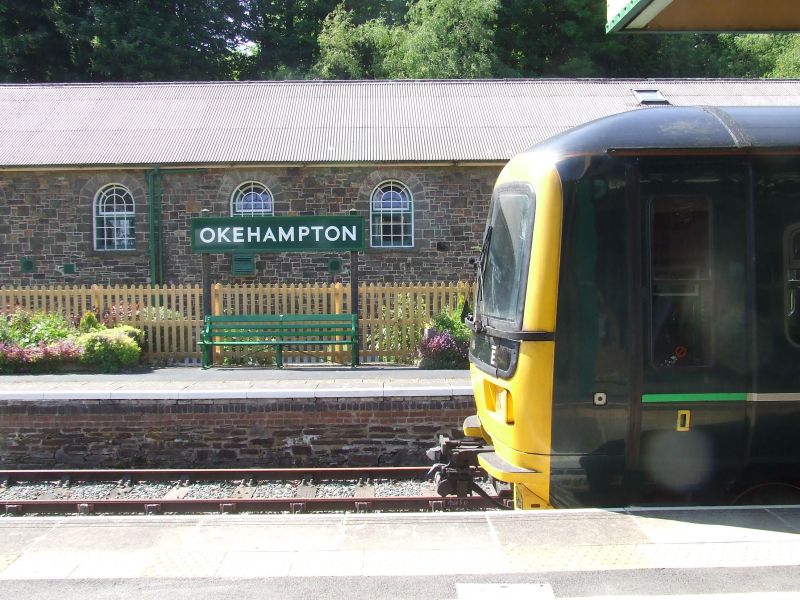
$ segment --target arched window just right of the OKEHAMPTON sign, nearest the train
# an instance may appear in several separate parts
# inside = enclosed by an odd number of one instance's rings
[[[414,247],[414,201],[408,186],[393,179],[378,184],[369,213],[373,248]]]

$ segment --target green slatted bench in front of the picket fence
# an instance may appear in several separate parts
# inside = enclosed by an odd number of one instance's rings
[[[358,315],[207,315],[200,332],[203,368],[213,366],[215,346],[275,348],[283,367],[284,346],[350,346],[358,364]]]

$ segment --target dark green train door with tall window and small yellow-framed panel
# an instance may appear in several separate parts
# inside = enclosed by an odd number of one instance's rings
[[[641,379],[628,458],[644,500],[713,502],[742,466],[749,180],[738,161],[639,162]]]

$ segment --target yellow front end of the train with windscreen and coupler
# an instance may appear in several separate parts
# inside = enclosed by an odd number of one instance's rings
[[[477,264],[470,372],[477,414],[463,440],[428,455],[442,495],[475,491],[485,470],[516,508],[547,508],[561,183],[552,160],[514,158],[501,172]]]

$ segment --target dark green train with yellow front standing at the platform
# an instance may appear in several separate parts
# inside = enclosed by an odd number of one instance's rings
[[[470,312],[440,494],[800,502],[800,107],[647,107],[515,156]]]

